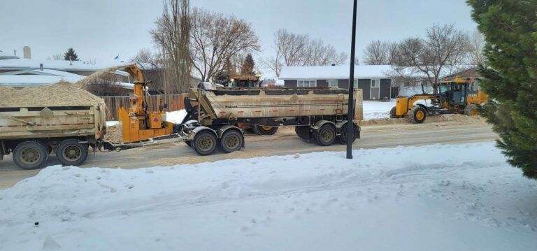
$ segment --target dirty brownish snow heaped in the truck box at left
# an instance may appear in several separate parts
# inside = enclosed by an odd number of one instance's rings
[[[103,99],[69,82],[20,90],[0,86],[0,97],[1,107],[93,106],[103,103]]]

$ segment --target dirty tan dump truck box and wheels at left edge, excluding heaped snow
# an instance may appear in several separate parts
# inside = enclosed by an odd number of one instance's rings
[[[98,145],[106,133],[105,107],[102,102],[0,108],[0,160],[13,153],[17,166],[34,169],[54,151],[65,166],[82,164],[90,145]]]

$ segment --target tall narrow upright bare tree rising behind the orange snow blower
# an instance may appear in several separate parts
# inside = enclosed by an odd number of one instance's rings
[[[171,71],[171,78],[164,80],[176,92],[185,92],[189,87],[192,65],[189,53],[189,0],[164,0],[162,15],[155,24],[157,27],[150,34],[162,50],[165,69]]]

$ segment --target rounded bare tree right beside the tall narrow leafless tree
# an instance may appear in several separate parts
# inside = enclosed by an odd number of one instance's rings
[[[260,49],[251,24],[233,15],[194,8],[191,24],[192,66],[204,81],[223,71],[226,59]]]

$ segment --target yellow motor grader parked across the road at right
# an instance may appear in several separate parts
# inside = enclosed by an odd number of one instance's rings
[[[438,94],[416,94],[398,98],[396,105],[389,112],[389,117],[408,117],[410,122],[421,124],[428,115],[459,113],[476,116],[478,106],[487,102],[488,96],[479,88],[469,88],[471,83],[471,78],[454,78],[438,83]]]

